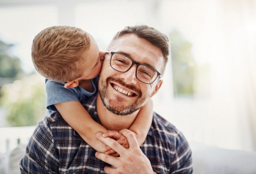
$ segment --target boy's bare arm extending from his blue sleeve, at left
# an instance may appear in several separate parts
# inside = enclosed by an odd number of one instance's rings
[[[99,141],[95,136],[99,131],[103,133],[108,132],[107,129],[95,122],[80,102],[68,101],[55,104],[54,106],[57,108],[63,119],[74,128],[82,139],[91,145],[93,149],[100,152],[105,152],[111,149]]]

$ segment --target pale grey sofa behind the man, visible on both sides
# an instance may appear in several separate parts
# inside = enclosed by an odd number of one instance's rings
[[[256,153],[228,150],[189,143],[193,157],[193,174],[256,174]],[[0,174],[20,174],[19,162],[25,153],[19,145],[10,154],[0,154]]]

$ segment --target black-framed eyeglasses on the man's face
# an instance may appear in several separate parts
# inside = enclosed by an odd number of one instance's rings
[[[151,84],[153,83],[157,77],[160,76],[161,74],[152,68],[151,66],[148,66],[146,64],[141,64],[139,62],[135,62],[128,56],[118,53],[118,52],[106,52],[111,54],[110,58],[110,66],[119,72],[125,73],[127,72],[133,64],[137,65],[136,68],[136,78],[146,84]]]

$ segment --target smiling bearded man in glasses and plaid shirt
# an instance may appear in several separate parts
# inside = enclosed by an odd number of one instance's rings
[[[97,133],[97,138],[120,157],[95,153],[55,114],[37,126],[21,161],[22,173],[192,173],[186,139],[158,114],[154,113],[141,147],[127,130],[140,108],[161,87],[169,54],[167,37],[147,26],[126,27],[115,35],[108,51],[99,77],[99,94],[84,106],[105,128],[121,131],[129,148]]]

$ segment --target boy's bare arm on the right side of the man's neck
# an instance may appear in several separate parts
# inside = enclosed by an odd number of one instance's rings
[[[138,141],[138,144],[141,146],[150,129],[153,119],[153,102],[150,98],[145,106],[140,109],[138,116],[133,121],[133,124],[129,128],[132,131]]]

